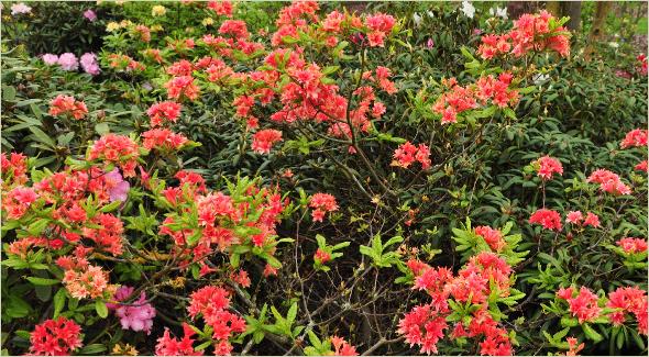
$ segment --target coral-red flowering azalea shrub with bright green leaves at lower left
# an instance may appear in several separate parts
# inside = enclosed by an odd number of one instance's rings
[[[147,146],[150,140],[145,134],[142,146]],[[65,310],[67,300],[69,309],[74,309],[73,303],[82,305],[96,311],[99,319],[107,319],[113,311],[122,330],[151,335],[154,319],[163,312],[156,308],[161,300],[147,297],[158,297],[154,283],[168,281],[168,275],[180,274],[178,278],[183,279],[183,275],[222,275],[248,288],[251,280],[245,270],[239,270],[237,276],[230,272],[253,256],[267,269],[277,271],[282,267],[274,255],[279,243],[290,239],[278,239],[275,227],[288,201],[276,188],[239,178],[228,185],[226,194],[208,190],[200,175],[185,170],[174,176],[177,185],[167,186],[157,170],[151,176],[145,174],[151,167],[142,158],[147,155],[150,152],[138,141],[113,134],[89,147],[86,159],[70,158],[70,165],[59,172],[33,169],[28,176],[29,160],[24,156],[2,155],[2,226],[3,232],[14,233],[14,239],[3,249],[6,265],[44,271],[29,278],[35,287],[61,285],[55,316],[72,316],[74,310]],[[135,172],[139,175],[133,178]],[[133,200],[140,201],[139,208]],[[157,209],[147,210],[143,203]],[[134,232],[154,241],[130,236]],[[134,250],[134,245],[141,250]],[[161,255],[167,258],[160,259]],[[221,258],[211,260],[217,256]],[[136,288],[119,287],[123,277],[117,279],[105,265],[128,259],[158,272]],[[121,269],[127,267],[121,265]],[[130,279],[140,280],[140,272]],[[202,316],[206,328],[212,331],[199,339],[205,337],[220,355],[233,349],[231,334],[245,332],[243,317],[228,312],[232,294],[208,286],[190,297],[189,316],[196,322],[198,315]],[[74,317],[84,321],[82,315]],[[32,333],[33,353],[62,355],[81,346],[81,328],[75,322],[59,316],[43,326]],[[156,352],[164,355],[190,350],[183,345],[186,339],[175,344],[168,332],[158,341]]]

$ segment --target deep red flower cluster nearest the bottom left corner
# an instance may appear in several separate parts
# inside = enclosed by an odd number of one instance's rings
[[[69,356],[81,347],[81,327],[74,321],[59,316],[34,327],[30,352],[38,356]]]

